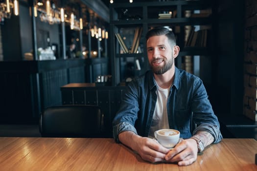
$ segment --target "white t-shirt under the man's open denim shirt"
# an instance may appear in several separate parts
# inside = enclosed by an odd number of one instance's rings
[[[167,114],[167,99],[170,91],[170,86],[164,89],[164,88],[161,88],[159,85],[157,85],[157,90],[156,90],[157,101],[154,109],[152,125],[150,127],[150,132],[149,132],[150,138],[154,138],[154,131],[158,129],[169,128],[168,114]]]

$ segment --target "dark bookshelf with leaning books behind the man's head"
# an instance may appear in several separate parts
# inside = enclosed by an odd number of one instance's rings
[[[191,66],[190,72],[201,77],[199,67],[202,59],[199,56],[208,56],[203,60],[210,65],[205,68],[211,70],[211,56],[214,54],[213,21],[212,0],[110,4],[112,85],[139,76],[149,69],[144,36],[149,29],[161,26],[172,28],[180,46],[179,57],[175,59],[176,66],[182,69],[186,69],[185,65],[187,68]],[[135,40],[138,42],[135,43]],[[208,78],[207,82],[211,83],[211,79]]]

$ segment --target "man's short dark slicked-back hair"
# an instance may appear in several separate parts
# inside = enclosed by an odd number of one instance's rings
[[[158,28],[153,28],[149,30],[146,33],[145,38],[147,41],[150,37],[162,36],[162,35],[165,35],[168,38],[168,41],[171,47],[176,45],[176,38],[174,33],[169,28],[166,28],[166,27],[158,27]]]

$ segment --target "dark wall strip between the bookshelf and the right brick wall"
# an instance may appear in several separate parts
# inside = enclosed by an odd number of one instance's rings
[[[218,113],[243,113],[244,1],[219,1],[217,15],[216,100]]]

